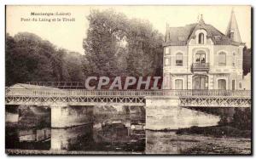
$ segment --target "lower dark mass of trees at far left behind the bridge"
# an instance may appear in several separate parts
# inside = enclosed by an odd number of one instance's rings
[[[84,80],[83,55],[55,48],[32,33],[6,36],[6,85],[18,82]]]

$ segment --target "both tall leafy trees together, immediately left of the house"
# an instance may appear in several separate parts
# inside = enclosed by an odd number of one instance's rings
[[[88,76],[162,76],[163,36],[148,21],[113,10],[93,10],[88,20]]]

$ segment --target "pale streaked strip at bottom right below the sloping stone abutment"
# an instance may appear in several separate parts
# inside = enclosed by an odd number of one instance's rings
[[[146,132],[146,154],[250,155],[251,139],[175,132]]]

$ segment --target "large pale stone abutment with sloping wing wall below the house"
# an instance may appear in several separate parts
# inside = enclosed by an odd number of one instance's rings
[[[218,125],[219,116],[179,106],[178,97],[146,97],[146,128],[152,130]]]

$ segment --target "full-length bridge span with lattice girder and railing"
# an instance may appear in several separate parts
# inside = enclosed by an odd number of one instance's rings
[[[6,105],[145,105],[145,97],[178,97],[181,106],[251,105],[249,90],[86,90],[6,88]]]

